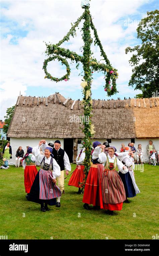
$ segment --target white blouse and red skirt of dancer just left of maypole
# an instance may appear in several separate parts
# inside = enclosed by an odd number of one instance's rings
[[[76,188],[82,188],[81,183],[83,183],[85,179],[85,173],[83,165],[83,161],[85,159],[85,149],[82,149],[80,154],[76,157],[76,168],[68,182],[68,186],[74,186]]]

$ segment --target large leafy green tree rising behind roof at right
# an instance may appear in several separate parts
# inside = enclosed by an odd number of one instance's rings
[[[158,57],[159,57],[159,11],[147,12],[147,17],[143,18],[138,25],[137,33],[142,41],[141,45],[134,48],[127,47],[125,53],[135,52],[130,58],[129,63],[133,68],[133,74],[129,81],[129,86],[139,89],[142,94],[136,95],[137,98],[156,97],[159,90],[158,79]]]

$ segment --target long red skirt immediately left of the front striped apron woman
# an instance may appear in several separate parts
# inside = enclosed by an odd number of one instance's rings
[[[86,180],[83,203],[100,206],[99,185],[103,171],[103,164],[92,164]]]

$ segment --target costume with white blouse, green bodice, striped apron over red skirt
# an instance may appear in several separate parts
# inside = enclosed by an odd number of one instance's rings
[[[123,202],[126,200],[126,195],[124,185],[116,171],[116,167],[122,173],[126,173],[128,170],[127,168],[122,169],[124,165],[115,155],[110,157],[102,152],[99,154],[99,161],[103,162],[104,160],[106,164],[100,183],[100,208],[110,211],[120,211]]]

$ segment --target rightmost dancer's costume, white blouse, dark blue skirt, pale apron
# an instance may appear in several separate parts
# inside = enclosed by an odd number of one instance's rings
[[[120,158],[120,161],[122,161],[128,168],[128,172],[126,172],[125,174],[119,172],[119,176],[124,184],[126,197],[135,197],[137,194],[140,193],[140,190],[135,182],[133,160],[134,159],[128,154]]]

